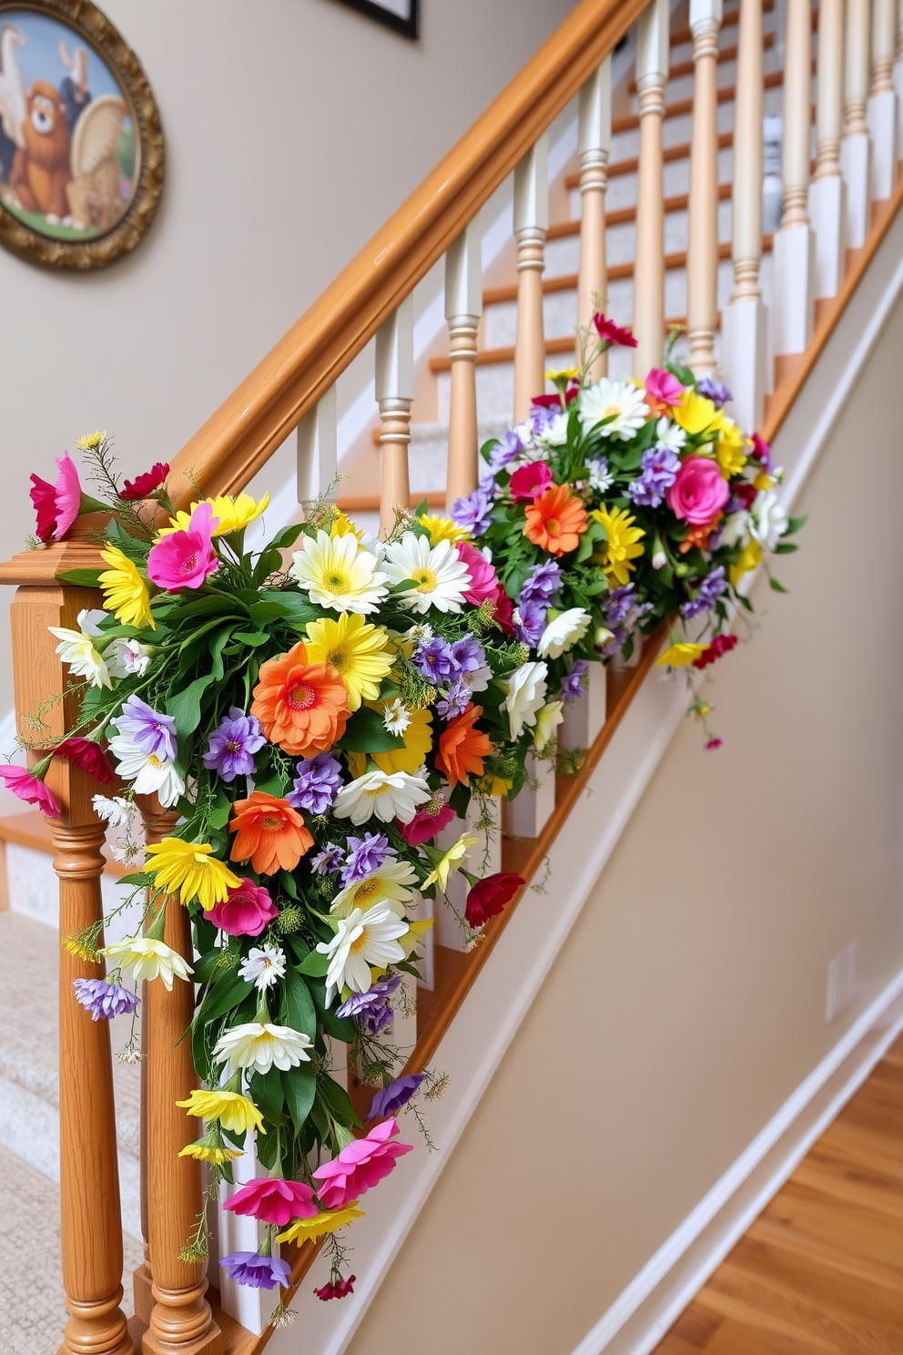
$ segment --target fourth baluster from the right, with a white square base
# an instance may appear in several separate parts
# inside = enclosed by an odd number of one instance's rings
[[[804,352],[815,324],[815,236],[807,211],[811,123],[812,11],[810,0],[789,0],[784,68],[784,215],[774,236],[776,379],[780,379],[780,358]]]

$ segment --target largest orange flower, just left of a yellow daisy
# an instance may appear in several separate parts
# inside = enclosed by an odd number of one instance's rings
[[[345,733],[348,688],[332,664],[309,664],[302,641],[260,665],[250,713],[294,757],[322,753]]]

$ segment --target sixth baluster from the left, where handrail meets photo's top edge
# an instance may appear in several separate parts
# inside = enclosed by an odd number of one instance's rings
[[[661,366],[665,350],[665,190],[662,118],[669,64],[669,4],[653,0],[636,26],[639,184],[634,262],[634,375]]]

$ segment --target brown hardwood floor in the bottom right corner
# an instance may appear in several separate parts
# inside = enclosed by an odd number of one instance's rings
[[[903,1355],[903,1037],[654,1355]]]

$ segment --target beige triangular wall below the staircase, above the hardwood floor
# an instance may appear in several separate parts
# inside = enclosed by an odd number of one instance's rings
[[[724,747],[680,728],[349,1355],[566,1355],[903,965],[900,352],[903,304],[716,669]]]

